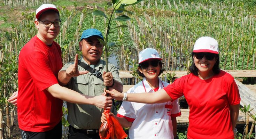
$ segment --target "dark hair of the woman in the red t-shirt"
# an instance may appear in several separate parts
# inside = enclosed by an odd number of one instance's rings
[[[192,55],[192,65],[189,67],[189,71],[191,73],[193,73],[194,75],[198,76],[198,68],[195,66],[195,63],[194,63],[194,52],[191,53]],[[214,74],[218,74],[220,72],[220,69],[219,69],[219,54],[216,54],[216,57],[217,58],[217,61],[216,63],[214,64],[214,67],[212,68],[212,71],[214,72]]]

